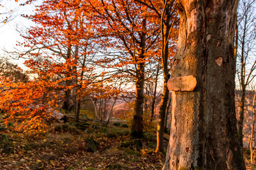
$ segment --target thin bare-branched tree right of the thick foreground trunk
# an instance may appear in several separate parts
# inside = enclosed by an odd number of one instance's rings
[[[253,54],[255,46],[255,1],[240,1],[239,15],[237,17],[237,79],[241,90],[239,101],[238,138],[243,146],[244,100],[248,85],[255,78],[256,60]]]

